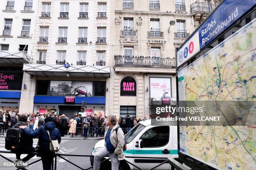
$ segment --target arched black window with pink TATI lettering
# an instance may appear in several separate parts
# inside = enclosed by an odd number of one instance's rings
[[[136,96],[136,81],[132,77],[125,77],[120,83],[120,96]]]

